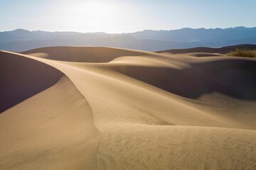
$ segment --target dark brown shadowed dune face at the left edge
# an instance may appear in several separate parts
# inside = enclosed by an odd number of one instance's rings
[[[0,113],[48,89],[63,73],[42,62],[0,52]]]

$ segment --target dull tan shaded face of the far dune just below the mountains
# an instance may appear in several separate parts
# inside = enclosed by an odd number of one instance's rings
[[[144,52],[111,47],[43,47],[23,54],[66,62],[110,62],[116,57],[144,55]]]

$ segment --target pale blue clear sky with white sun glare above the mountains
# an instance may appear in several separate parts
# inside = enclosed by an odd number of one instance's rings
[[[0,0],[0,31],[255,27],[255,18],[256,0]]]

